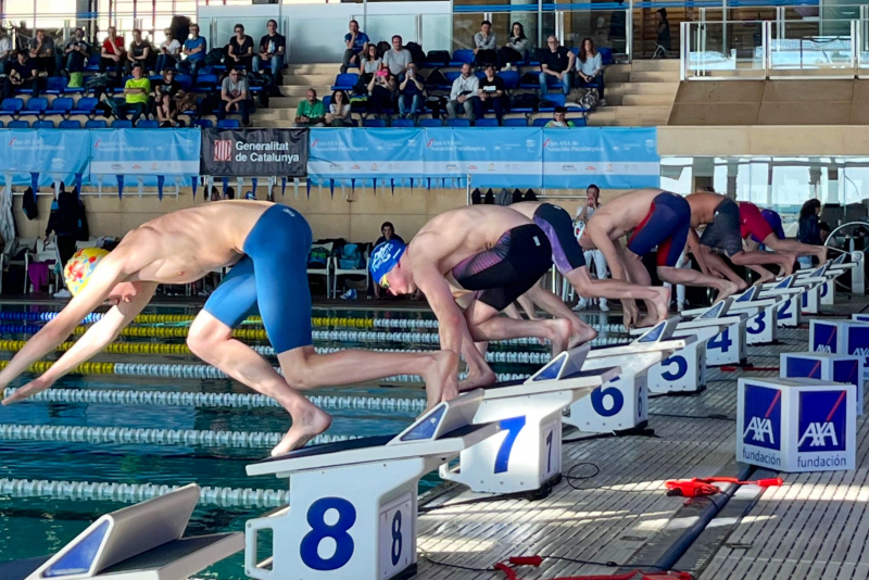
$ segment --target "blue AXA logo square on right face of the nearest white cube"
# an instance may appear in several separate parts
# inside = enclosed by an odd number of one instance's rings
[[[801,392],[797,451],[844,451],[846,402],[844,389]]]

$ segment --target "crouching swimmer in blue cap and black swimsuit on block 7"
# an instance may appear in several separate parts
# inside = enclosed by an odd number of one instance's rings
[[[484,345],[478,349],[475,343],[533,337],[547,339],[557,354],[596,336],[558,297],[537,283],[551,266],[552,247],[540,227],[498,205],[444,212],[406,247],[379,244],[370,263],[374,282],[390,293],[410,294],[418,288],[426,294],[440,323],[441,349],[461,353],[468,364],[463,390],[495,380],[480,352]],[[500,316],[522,294],[556,318]]]

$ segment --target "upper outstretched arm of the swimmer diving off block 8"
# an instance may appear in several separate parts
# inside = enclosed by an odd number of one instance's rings
[[[56,349],[73,333],[85,316],[102,304],[115,285],[127,277],[122,263],[122,256],[115,256],[114,252],[100,262],[84,290],[53,320],[34,335],[0,373],[0,389],[5,389],[27,367]]]

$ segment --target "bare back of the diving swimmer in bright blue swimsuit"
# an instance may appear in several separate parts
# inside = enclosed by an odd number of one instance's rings
[[[160,216],[130,230],[114,252],[128,281],[188,283],[237,263],[256,220],[274,203],[218,201]]]

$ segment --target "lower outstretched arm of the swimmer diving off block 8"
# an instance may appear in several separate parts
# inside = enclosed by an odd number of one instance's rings
[[[140,282],[140,291],[129,302],[122,302],[110,308],[58,362],[51,365],[51,368],[3,400],[3,404],[8,405],[50,389],[59,378],[100,353],[151,302],[156,287],[156,282]]]

